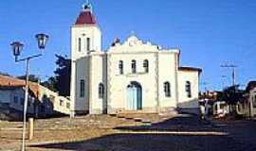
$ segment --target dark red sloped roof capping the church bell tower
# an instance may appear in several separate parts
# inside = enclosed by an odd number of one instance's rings
[[[96,20],[91,11],[82,11],[75,25],[96,25]]]

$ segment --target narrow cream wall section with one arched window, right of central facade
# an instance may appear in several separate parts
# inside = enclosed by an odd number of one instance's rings
[[[159,88],[159,107],[160,110],[174,109],[177,102],[177,86],[175,78],[175,53],[159,52],[158,55],[158,88]],[[171,97],[165,96],[164,83],[169,82],[171,85]]]

